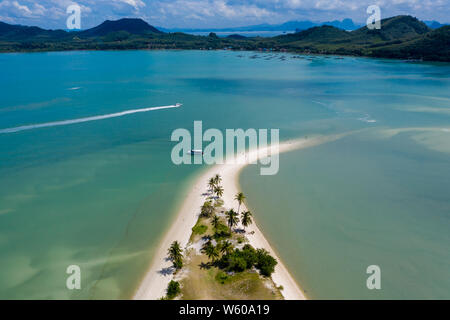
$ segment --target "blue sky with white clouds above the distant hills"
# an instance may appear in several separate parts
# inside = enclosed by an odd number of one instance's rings
[[[364,22],[377,4],[382,18],[410,14],[450,22],[450,0],[0,0],[0,21],[65,29],[66,8],[77,3],[82,28],[106,19],[139,17],[161,27],[230,27],[289,20]]]

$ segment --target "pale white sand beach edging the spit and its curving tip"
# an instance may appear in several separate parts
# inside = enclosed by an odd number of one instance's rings
[[[279,144],[278,152],[287,152],[301,148],[307,148],[310,146],[318,145],[324,142],[333,141],[339,139],[343,135],[328,136],[328,137],[316,137],[310,139],[299,139],[287,141]],[[242,159],[263,158],[266,152],[270,150],[270,146],[266,148],[260,148],[252,150],[246,155],[242,154],[237,156]],[[272,150],[273,151],[273,150]],[[269,151],[270,154],[270,151]],[[244,158],[248,157],[248,158]],[[280,164],[281,165],[281,164]],[[234,200],[234,196],[238,193],[238,177],[239,173],[246,164],[240,164],[236,161],[236,164],[221,164],[215,165],[205,171],[192,185],[185,201],[181,205],[180,211],[176,217],[176,220],[170,227],[169,231],[165,234],[156,254],[150,265],[150,269],[141,282],[134,299],[137,300],[155,300],[163,297],[166,293],[166,288],[170,280],[172,280],[172,274],[163,274],[161,270],[170,270],[172,263],[166,259],[167,249],[170,247],[173,241],[179,241],[181,246],[185,248],[188,244],[191,236],[191,229],[196,224],[198,216],[200,214],[200,207],[206,200],[208,180],[215,174],[219,174],[222,177],[222,186],[224,188],[224,207],[227,209],[234,208],[237,211],[238,203]],[[244,192],[245,193],[245,192]],[[245,205],[241,205],[240,211],[246,210]],[[275,272],[272,274],[272,279],[277,286],[283,286],[282,294],[286,300],[304,300],[306,299],[300,287],[291,276],[287,268],[284,266],[281,259],[276,252],[272,249],[267,239],[262,232],[258,229],[256,221],[258,220],[258,213],[253,212],[253,224],[247,228],[246,237],[249,239],[250,244],[255,248],[264,248],[278,261],[275,267]],[[255,221],[256,220],[256,221]],[[254,234],[249,234],[254,231]]]

